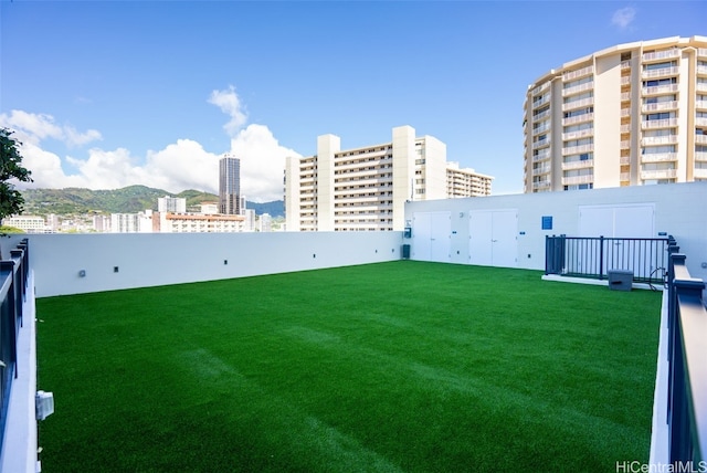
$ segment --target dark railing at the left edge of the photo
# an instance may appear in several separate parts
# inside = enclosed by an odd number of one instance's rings
[[[0,449],[12,379],[22,368],[18,364],[18,335],[22,327],[22,303],[30,267],[28,241],[22,240],[15,250],[10,251],[10,260],[0,261]]]

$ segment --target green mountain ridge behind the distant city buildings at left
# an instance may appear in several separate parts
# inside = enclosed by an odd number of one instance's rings
[[[179,193],[154,189],[146,186],[129,186],[114,190],[91,190],[83,188],[66,189],[25,189],[24,214],[78,216],[88,213],[135,213],[146,209],[157,210],[157,199],[165,196],[187,199],[187,210],[198,211],[201,202],[218,201],[219,196],[200,190],[184,190]],[[273,202],[246,202],[246,208],[254,209],[256,214],[270,213],[273,217],[284,216],[282,200]],[[260,210],[260,211],[258,211]]]

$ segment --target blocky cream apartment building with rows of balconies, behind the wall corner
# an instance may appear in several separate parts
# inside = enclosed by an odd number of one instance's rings
[[[323,135],[315,156],[287,159],[286,228],[402,230],[405,201],[445,199],[447,190],[446,145],[433,136],[400,126],[390,143],[342,150],[338,136]]]

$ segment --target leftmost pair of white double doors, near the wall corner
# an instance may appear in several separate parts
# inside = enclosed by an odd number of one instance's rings
[[[415,212],[412,225],[413,260],[450,261],[452,212]]]

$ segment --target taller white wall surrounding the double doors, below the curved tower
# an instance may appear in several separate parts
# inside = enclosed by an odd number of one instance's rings
[[[469,211],[517,209],[517,267],[545,270],[546,235],[599,236],[578,234],[580,206],[636,203],[655,206],[655,236],[658,232],[675,236],[680,253],[687,255],[689,273],[707,280],[707,267],[701,266],[707,265],[707,182],[415,201],[405,206],[405,220],[412,221],[414,212],[451,211],[450,262],[468,264]],[[552,217],[552,230],[542,230],[545,216]],[[413,240],[405,239],[404,243],[412,244]]]

